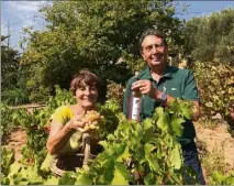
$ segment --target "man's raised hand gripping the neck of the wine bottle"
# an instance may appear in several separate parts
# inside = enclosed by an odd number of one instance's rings
[[[132,84],[132,90],[138,90],[142,95],[148,95],[153,99],[157,97],[158,90],[151,80],[137,80]]]

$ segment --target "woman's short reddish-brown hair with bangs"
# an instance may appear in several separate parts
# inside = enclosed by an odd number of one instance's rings
[[[100,88],[101,88],[101,81],[98,78],[97,75],[94,75],[93,73],[91,73],[88,69],[80,69],[79,73],[77,75],[75,75],[74,79],[70,83],[70,91],[71,94],[75,96],[76,95],[76,90],[80,87],[82,87],[83,85],[88,85],[88,86],[94,86],[98,89],[98,92],[100,92]]]

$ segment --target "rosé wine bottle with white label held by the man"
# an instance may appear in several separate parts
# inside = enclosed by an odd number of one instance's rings
[[[134,81],[138,80],[138,72],[135,73]],[[127,120],[140,122],[142,110],[142,94],[138,90],[131,90],[127,101]]]

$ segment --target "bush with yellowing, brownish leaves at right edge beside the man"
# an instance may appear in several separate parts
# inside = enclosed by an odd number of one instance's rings
[[[211,72],[212,68],[212,72]],[[229,114],[229,102],[234,101],[234,68],[221,63],[196,63],[196,79],[201,96],[202,114]]]

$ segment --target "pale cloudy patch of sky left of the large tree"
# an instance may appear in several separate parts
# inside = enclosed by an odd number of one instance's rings
[[[45,20],[40,18],[38,9],[52,4],[53,1],[2,1],[1,3],[1,33],[8,34],[7,25],[10,25],[11,43],[13,47],[22,35],[23,28],[33,26],[35,30],[45,29]]]

